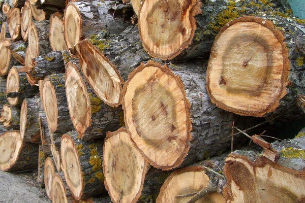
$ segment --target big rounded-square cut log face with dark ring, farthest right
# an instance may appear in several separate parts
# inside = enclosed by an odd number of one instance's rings
[[[239,115],[263,116],[286,94],[288,51],[271,21],[242,17],[221,29],[211,49],[206,86],[212,103]]]

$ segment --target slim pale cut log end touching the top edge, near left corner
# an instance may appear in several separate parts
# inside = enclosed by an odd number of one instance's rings
[[[24,7],[21,9],[21,37],[24,41],[28,37],[28,28],[32,23],[32,11],[29,7],[29,2],[26,1]]]

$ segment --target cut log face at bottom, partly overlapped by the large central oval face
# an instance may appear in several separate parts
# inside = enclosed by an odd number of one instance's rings
[[[113,202],[136,202],[140,197],[148,162],[133,146],[124,128],[107,132],[103,173]]]

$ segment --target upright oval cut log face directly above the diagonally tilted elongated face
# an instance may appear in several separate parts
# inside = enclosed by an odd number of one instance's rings
[[[64,14],[65,39],[68,48],[73,48],[81,36],[81,16],[77,7],[70,3]]]

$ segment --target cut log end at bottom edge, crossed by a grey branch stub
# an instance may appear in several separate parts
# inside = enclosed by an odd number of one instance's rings
[[[210,185],[209,180],[202,167],[177,170],[162,185],[156,202],[189,202],[195,194]],[[196,202],[224,203],[225,198],[218,192],[212,192]]]

